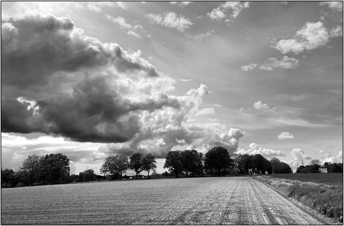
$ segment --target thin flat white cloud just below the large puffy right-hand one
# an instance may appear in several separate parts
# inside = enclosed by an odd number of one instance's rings
[[[299,61],[295,58],[289,58],[288,56],[283,56],[280,60],[275,57],[269,57],[263,63],[250,63],[249,65],[241,66],[241,70],[249,71],[257,68],[266,71],[272,71],[275,68],[291,69],[296,68],[299,65]]]

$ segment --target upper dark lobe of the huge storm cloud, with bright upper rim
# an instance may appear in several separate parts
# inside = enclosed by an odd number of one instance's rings
[[[56,72],[108,62],[121,72],[143,70],[159,76],[154,66],[134,62],[119,45],[85,36],[70,18],[37,15],[1,21],[1,85],[45,85]]]

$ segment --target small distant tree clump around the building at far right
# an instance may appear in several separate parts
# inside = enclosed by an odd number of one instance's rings
[[[343,163],[325,162],[324,165],[321,165],[319,159],[313,159],[308,165],[299,166],[296,173],[320,173],[320,168],[326,168],[327,173],[343,173]]]

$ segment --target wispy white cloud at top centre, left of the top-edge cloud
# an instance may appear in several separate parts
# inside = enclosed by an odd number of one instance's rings
[[[153,23],[168,27],[176,28],[178,31],[183,32],[185,29],[190,28],[192,23],[188,18],[183,17],[174,12],[165,12],[162,14],[147,13],[144,17],[150,19]]]

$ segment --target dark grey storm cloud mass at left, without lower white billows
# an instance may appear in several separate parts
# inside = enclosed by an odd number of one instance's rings
[[[2,21],[1,34],[1,132],[125,142],[140,132],[140,111],[179,108],[178,100],[164,93],[140,101],[122,97],[112,84],[116,73],[137,71],[147,78],[160,74],[139,55],[85,36],[69,18],[10,18]],[[43,87],[54,93],[39,93]]]

